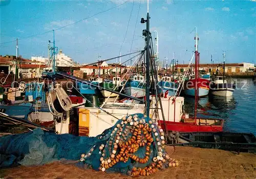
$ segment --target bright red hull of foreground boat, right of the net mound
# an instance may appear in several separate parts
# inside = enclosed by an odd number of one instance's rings
[[[165,130],[163,121],[161,127]],[[170,122],[165,121],[167,131],[178,131],[178,132],[222,132],[223,131],[223,120],[221,125],[197,125],[195,122]]]

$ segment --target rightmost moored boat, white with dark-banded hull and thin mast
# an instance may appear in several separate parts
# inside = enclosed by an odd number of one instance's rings
[[[232,96],[236,89],[236,84],[227,82],[227,78],[225,76],[225,53],[223,54],[223,59],[223,75],[214,76],[210,84],[210,93],[217,96]],[[219,70],[217,70],[217,74],[218,73],[220,73]]]

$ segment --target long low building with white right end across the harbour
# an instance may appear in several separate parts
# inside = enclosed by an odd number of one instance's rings
[[[178,64],[176,65],[176,68],[179,72],[184,72],[186,68],[188,67],[188,64]],[[195,64],[192,65],[193,70],[195,68]],[[204,70],[205,72],[216,72],[216,70],[219,69],[220,72],[223,72],[223,64],[199,64],[199,70]],[[225,72],[231,73],[231,72],[247,72],[251,69],[254,69],[253,63],[226,63],[225,64]]]

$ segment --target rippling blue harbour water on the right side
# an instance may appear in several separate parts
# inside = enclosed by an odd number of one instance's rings
[[[207,96],[199,99],[198,117],[224,119],[224,131],[256,135],[256,83],[237,78],[231,97]],[[194,115],[194,98],[185,97],[185,112]]]

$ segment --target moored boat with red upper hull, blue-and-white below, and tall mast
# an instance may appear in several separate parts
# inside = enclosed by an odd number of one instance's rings
[[[209,94],[210,81],[203,79],[203,78],[199,78],[198,72],[199,72],[200,53],[198,53],[199,37],[197,34],[196,34],[195,40],[196,40],[196,44],[195,44],[195,48],[196,48],[195,49],[195,78],[185,81],[185,83],[183,85],[183,92],[187,96],[195,96],[195,94],[198,94],[199,97],[205,97]]]

